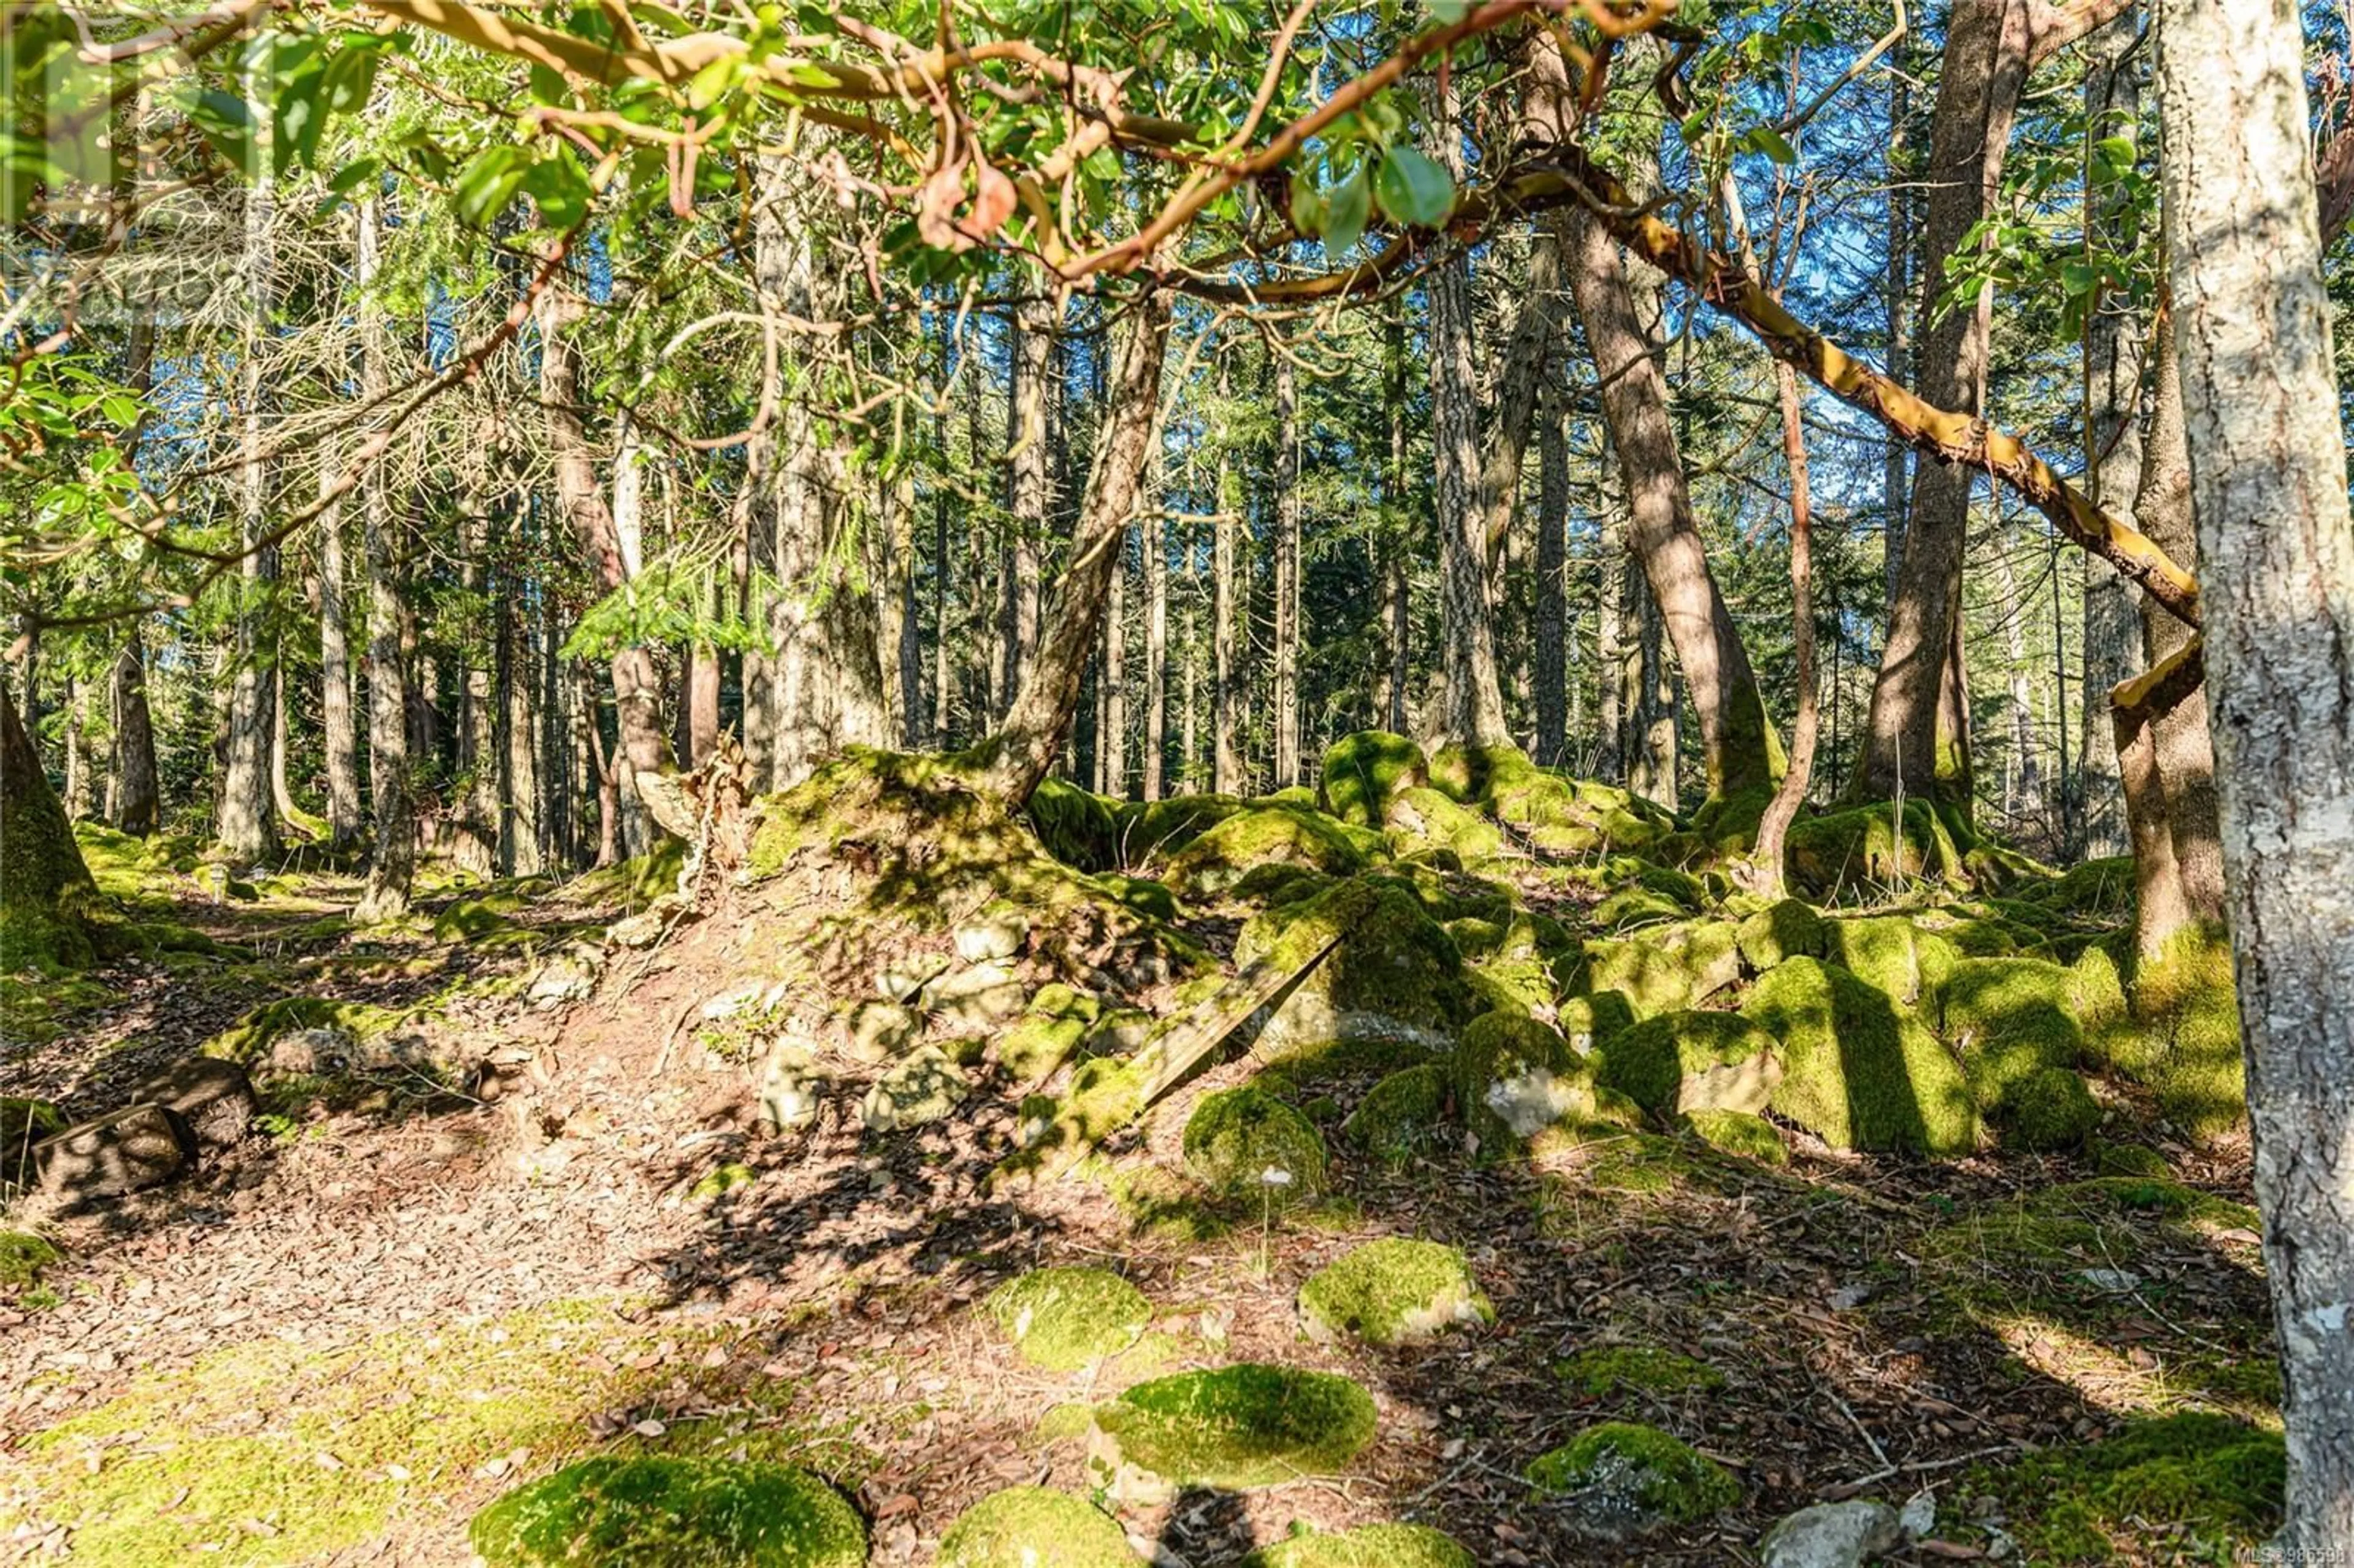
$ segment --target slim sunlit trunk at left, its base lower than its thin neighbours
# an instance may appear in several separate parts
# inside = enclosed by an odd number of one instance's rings
[[[384,313],[377,304],[377,202],[360,202],[353,292],[360,318],[360,396],[379,398],[391,381],[384,363]],[[417,869],[417,808],[410,798],[410,695],[400,650],[400,556],[384,466],[360,478],[360,553],[367,563],[367,784],[374,850],[353,918],[398,921],[410,909]]]

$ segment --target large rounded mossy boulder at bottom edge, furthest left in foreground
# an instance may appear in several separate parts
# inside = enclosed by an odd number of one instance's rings
[[[581,1460],[466,1530],[490,1568],[862,1568],[866,1526],[817,1476],[727,1460]]]

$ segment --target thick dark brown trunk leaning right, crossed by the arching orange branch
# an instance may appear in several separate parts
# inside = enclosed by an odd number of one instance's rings
[[[2034,47],[2029,0],[1959,0],[1947,24],[1930,120],[1928,221],[1921,278],[1940,287],[1947,261],[2001,188],[2010,122]],[[1973,414],[1987,403],[1987,344],[1994,290],[1975,308],[1949,311],[1921,339],[1921,393]],[[1961,558],[1975,473],[1921,464],[1904,518],[1904,553],[1888,612],[1888,645],[1871,687],[1871,720],[1855,793],[1935,796],[1963,812],[1968,791],[1968,702],[1959,664]],[[1949,666],[1949,659],[1954,662]]]

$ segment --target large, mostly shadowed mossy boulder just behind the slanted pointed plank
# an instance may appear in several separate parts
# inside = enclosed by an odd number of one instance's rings
[[[1335,944],[1337,939],[1337,944]],[[1443,1048],[1471,1015],[1462,954],[1410,883],[1361,876],[1252,916],[1233,946],[1238,965],[1292,968],[1335,944],[1259,1026],[1257,1055],[1337,1041],[1410,1041]]]

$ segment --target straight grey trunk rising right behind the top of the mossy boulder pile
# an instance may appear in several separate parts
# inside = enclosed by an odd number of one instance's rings
[[[1452,82],[1431,115],[1438,162],[1462,184]],[[1476,746],[1509,746],[1488,610],[1488,518],[1478,506],[1478,372],[1471,365],[1471,275],[1457,250],[1424,280],[1429,299],[1431,447],[1438,509],[1438,622],[1443,709],[1436,730]]]

